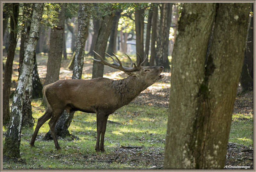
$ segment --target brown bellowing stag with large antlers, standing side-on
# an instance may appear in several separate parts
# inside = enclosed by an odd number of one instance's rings
[[[60,150],[61,147],[57,141],[54,130],[55,124],[64,110],[69,113],[71,111],[82,111],[85,113],[96,113],[97,140],[95,150],[96,152],[105,152],[104,136],[108,116],[114,113],[118,108],[129,104],[148,86],[164,78],[164,74],[161,74],[164,67],[142,66],[147,58],[141,62],[142,58],[138,53],[139,61],[137,65],[125,54],[131,62],[130,67],[123,66],[114,53],[118,63],[106,52],[106,55],[113,60],[113,63],[108,63],[98,53],[95,51],[94,53],[100,57],[100,60],[94,59],[93,57],[92,60],[124,71],[129,76],[119,80],[103,77],[95,79],[61,79],[44,86],[43,93],[46,98],[47,109],[44,115],[37,121],[30,146],[34,146],[40,127],[50,119],[48,124],[54,145],[57,150]]]

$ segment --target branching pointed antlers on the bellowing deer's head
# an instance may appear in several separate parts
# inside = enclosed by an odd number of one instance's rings
[[[108,53],[105,52],[113,60],[113,63],[110,64],[110,63],[106,62],[98,53],[96,53],[95,51],[93,51],[93,52],[97,56],[100,57],[100,60],[97,60],[97,59],[95,59],[93,57],[92,57],[92,60],[94,60],[96,62],[99,62],[101,64],[108,65],[108,66],[110,66],[112,68],[119,69],[119,70],[124,71],[124,72],[139,71],[140,70],[140,65],[143,65],[146,62],[146,58],[145,58],[145,60],[141,63],[141,56],[137,53],[139,55],[139,57],[140,57],[140,61],[139,61],[139,63],[136,66],[136,64],[132,62],[131,57],[129,57],[127,54],[125,54],[129,58],[129,60],[131,61],[131,66],[128,68],[128,67],[124,67],[122,65],[121,61],[117,58],[117,56],[114,53],[113,54],[116,57],[118,63],[116,62],[116,60],[112,56],[110,56]],[[133,65],[134,65],[134,67],[132,67]]]

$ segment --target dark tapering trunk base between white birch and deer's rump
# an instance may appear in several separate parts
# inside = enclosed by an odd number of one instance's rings
[[[34,55],[34,64],[33,64],[33,76],[32,76],[32,98],[42,98],[43,97],[43,86],[39,79],[38,71],[37,71],[37,63],[36,63],[36,53]]]

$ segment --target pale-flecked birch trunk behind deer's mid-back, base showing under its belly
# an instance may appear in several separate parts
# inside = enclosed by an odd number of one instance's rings
[[[76,49],[75,49],[75,64],[73,69],[72,79],[81,79],[83,66],[84,66],[84,45],[86,41],[86,34],[88,30],[88,11],[91,9],[90,3],[80,3],[79,10],[78,10],[78,33],[77,33],[77,42],[76,42]],[[87,34],[88,35],[88,34]],[[74,112],[68,113],[66,110],[61,114],[60,119],[57,121],[55,125],[55,133],[65,138],[70,136],[71,134],[68,131],[68,127],[72,121],[74,116]],[[74,137],[74,136],[73,136]],[[44,139],[52,139],[51,131],[49,130]]]

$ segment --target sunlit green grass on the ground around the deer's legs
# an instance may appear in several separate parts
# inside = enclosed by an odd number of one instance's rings
[[[40,100],[32,102],[35,126],[37,119],[44,114]],[[105,134],[105,153],[96,153],[96,115],[77,111],[69,127],[70,133],[79,139],[59,139],[61,150],[54,148],[52,140],[43,141],[42,137],[49,131],[48,122],[40,128],[35,147],[29,146],[34,128],[23,128],[21,133],[20,155],[26,161],[22,163],[3,163],[4,169],[124,169],[129,164],[87,162],[87,156],[112,156],[122,146],[143,146],[138,153],[164,148],[168,110],[153,106],[129,104],[118,109],[108,120]],[[253,117],[251,115],[234,114],[230,131],[230,142],[252,146]],[[4,128],[4,131],[6,129]],[[127,139],[128,138],[128,139]],[[163,149],[164,150],[164,149]],[[126,156],[129,156],[127,154]],[[141,163],[140,168],[149,168]]]

